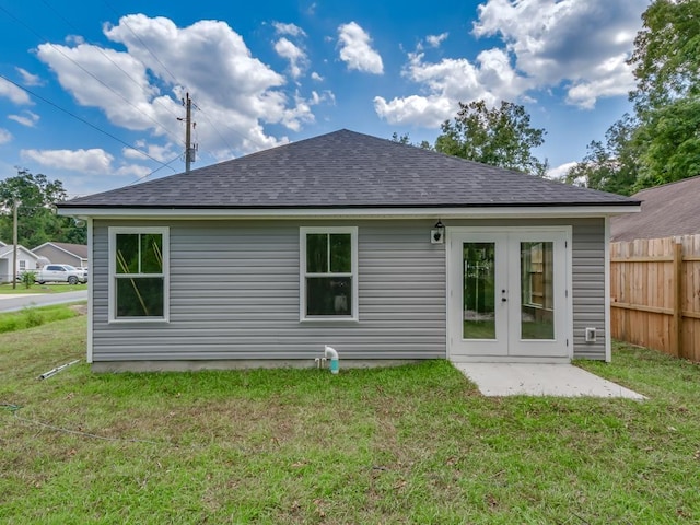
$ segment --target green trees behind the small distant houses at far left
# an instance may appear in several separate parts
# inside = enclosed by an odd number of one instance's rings
[[[67,197],[60,180],[19,170],[18,175],[0,180],[0,240],[12,242],[12,208],[18,208],[20,244],[34,248],[47,241],[83,244],[85,229],[68,217],[56,214],[56,202]]]

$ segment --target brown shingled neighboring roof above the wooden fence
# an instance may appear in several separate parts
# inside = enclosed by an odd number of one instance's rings
[[[610,221],[610,241],[670,237],[700,233],[700,175],[643,189],[633,199],[642,211]]]

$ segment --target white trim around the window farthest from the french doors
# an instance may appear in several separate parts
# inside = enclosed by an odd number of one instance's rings
[[[116,280],[116,245],[117,234],[121,233],[158,233],[163,236],[163,316],[162,317],[117,317]],[[108,322],[109,323],[168,323],[171,314],[171,265],[170,265],[170,228],[167,226],[109,226],[109,284],[108,284]]]

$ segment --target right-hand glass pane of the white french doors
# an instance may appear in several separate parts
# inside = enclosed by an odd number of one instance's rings
[[[521,243],[521,339],[555,338],[552,242]]]

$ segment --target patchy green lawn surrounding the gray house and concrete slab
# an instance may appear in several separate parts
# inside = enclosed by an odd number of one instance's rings
[[[37,381],[84,347],[84,316],[0,335],[0,523],[700,522],[700,366],[652,351],[581,363],[644,402],[485,398],[445,361]]]

